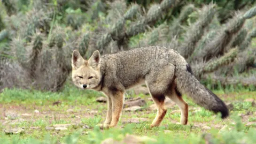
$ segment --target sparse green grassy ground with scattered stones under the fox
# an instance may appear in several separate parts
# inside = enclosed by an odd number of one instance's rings
[[[19,143],[46,140],[47,136],[50,136],[48,139],[55,139],[61,143],[70,142],[71,144],[71,141],[77,141],[79,144],[99,144],[108,137],[122,139],[122,133],[148,136],[159,143],[162,140],[164,143],[169,142],[168,138],[173,142],[194,139],[197,141],[195,143],[199,143],[202,134],[211,133],[218,137],[220,131],[225,128],[230,131],[236,129],[239,132],[236,118],[242,121],[244,136],[247,136],[248,129],[255,130],[256,92],[214,92],[231,109],[230,116],[225,120],[220,119],[218,114],[195,105],[191,99],[184,96],[189,104],[188,124],[186,126],[179,124],[178,106],[167,101],[168,111],[161,126],[151,129],[149,126],[156,115],[154,103],[149,99],[149,95],[139,94],[126,96],[125,100],[129,103],[128,101],[131,101],[129,97],[132,97],[134,101],[136,99],[140,101],[137,103],[140,107],[133,107],[136,111],[124,109],[117,128],[101,130],[98,127],[94,128],[98,123],[103,123],[107,113],[107,103],[96,101],[103,96],[101,93],[85,92],[70,85],[66,86],[62,92],[6,89],[0,93],[0,134],[2,142],[16,140]],[[20,133],[15,134],[15,130]],[[70,138],[70,136],[73,137]],[[219,141],[232,142],[225,140],[228,136],[224,134],[222,136],[224,139],[218,137]],[[229,139],[232,139],[231,137]],[[236,134],[233,137],[236,137]]]

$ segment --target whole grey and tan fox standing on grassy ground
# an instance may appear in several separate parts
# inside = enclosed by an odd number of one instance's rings
[[[107,98],[107,115],[104,128],[113,128],[122,114],[125,91],[146,85],[157,113],[150,127],[158,127],[167,108],[164,100],[170,98],[180,110],[180,124],[188,122],[186,95],[199,106],[229,116],[224,101],[200,83],[185,58],[176,50],[164,46],[140,46],[117,53],[100,54],[93,51],[84,59],[78,50],[72,53],[72,82],[79,89],[102,92]]]

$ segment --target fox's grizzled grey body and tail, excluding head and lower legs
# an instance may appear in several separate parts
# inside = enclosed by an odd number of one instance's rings
[[[101,81],[93,88],[96,91],[125,91],[146,82],[153,96],[166,96],[175,87],[196,104],[221,112],[222,118],[229,115],[225,103],[193,76],[186,60],[173,49],[147,46],[106,54],[99,67]]]

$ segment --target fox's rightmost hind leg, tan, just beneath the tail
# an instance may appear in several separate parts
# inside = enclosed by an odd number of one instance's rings
[[[180,109],[180,123],[187,124],[188,119],[188,104],[182,99],[181,93],[176,89],[176,85],[171,87],[171,90],[166,94],[173,102],[175,102]]]

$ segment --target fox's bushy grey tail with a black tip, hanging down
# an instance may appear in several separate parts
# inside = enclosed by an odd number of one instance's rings
[[[222,119],[228,117],[229,110],[225,103],[196,79],[188,64],[177,65],[175,75],[179,92],[191,97],[196,104],[215,114],[220,112]]]

